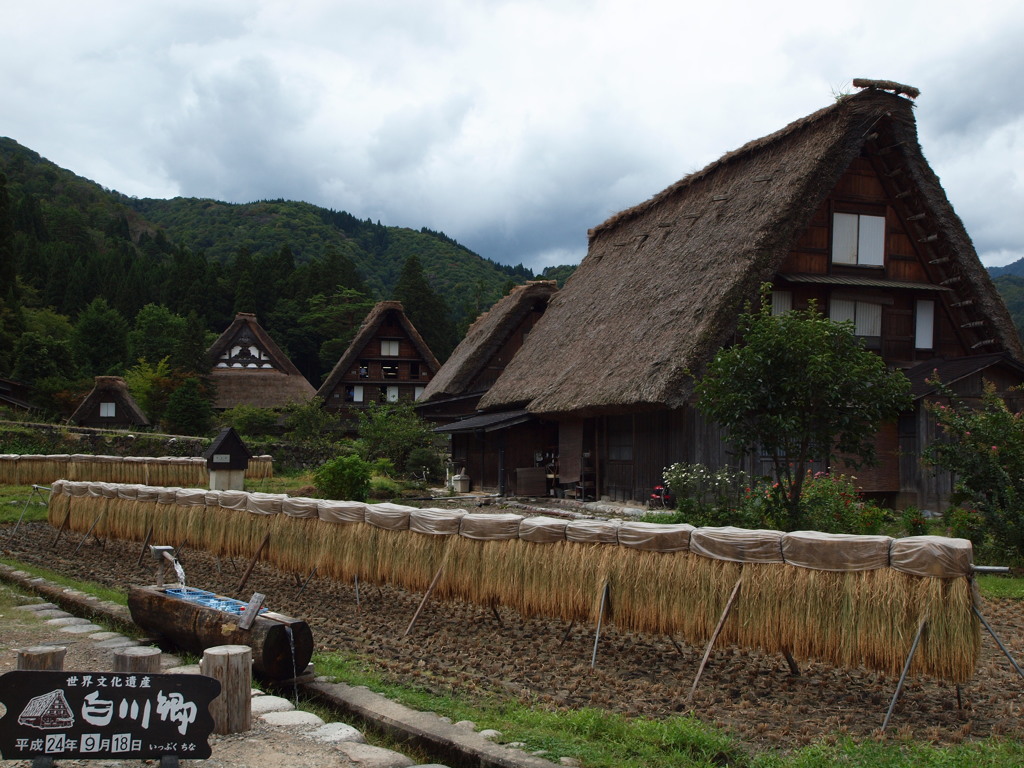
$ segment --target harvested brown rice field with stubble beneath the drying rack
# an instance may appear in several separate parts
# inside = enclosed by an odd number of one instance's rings
[[[138,543],[90,539],[76,553],[81,534],[67,534],[54,550],[54,528],[45,522],[24,525],[9,542],[8,531],[0,531],[0,545],[19,561],[116,589],[154,582],[151,561],[136,564]],[[357,595],[352,582],[315,575],[300,594],[300,580],[263,563],[237,592],[247,561],[186,548],[181,562],[189,586],[240,599],[264,593],[271,609],[310,624],[318,651],[372,659],[385,675],[438,695],[664,718],[690,710],[685,697],[703,652],[678,638],[607,626],[592,669],[595,627],[588,621],[527,620],[501,604],[459,601],[428,601],[403,637],[422,593],[364,583]],[[989,598],[982,610],[1010,650],[1024,655],[1021,600]],[[780,654],[723,644],[711,655],[691,711],[754,751],[877,731],[896,676],[797,660],[801,674],[792,676]],[[891,731],[935,743],[1020,738],[1022,683],[986,635],[977,672],[962,685],[911,676]]]

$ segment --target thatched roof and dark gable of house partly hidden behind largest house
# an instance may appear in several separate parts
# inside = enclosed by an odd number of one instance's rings
[[[516,286],[470,326],[465,338],[427,385],[421,403],[481,394],[494,384],[558,291],[554,281]]]

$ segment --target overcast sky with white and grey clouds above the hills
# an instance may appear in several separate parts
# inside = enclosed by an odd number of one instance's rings
[[[32,0],[0,135],[138,197],[302,200],[535,269],[831,101],[922,90],[989,266],[1024,257],[1020,0]]]

